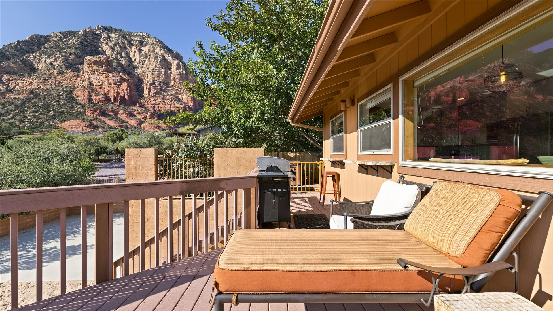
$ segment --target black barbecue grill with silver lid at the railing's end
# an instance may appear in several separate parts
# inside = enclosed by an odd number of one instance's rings
[[[259,228],[263,222],[288,222],[290,224],[290,161],[277,157],[257,158],[258,198],[257,219]]]

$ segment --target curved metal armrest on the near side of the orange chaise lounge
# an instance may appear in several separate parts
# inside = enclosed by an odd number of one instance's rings
[[[509,263],[504,261],[493,261],[484,263],[484,265],[475,266],[475,267],[463,267],[463,268],[440,268],[422,265],[421,263],[416,263],[413,261],[405,260],[403,258],[398,259],[398,264],[405,270],[409,269],[409,266],[413,266],[419,269],[424,269],[429,272],[439,273],[439,274],[448,274],[453,276],[476,276],[483,273],[497,272],[503,269],[509,269],[513,271],[514,267],[509,265]]]

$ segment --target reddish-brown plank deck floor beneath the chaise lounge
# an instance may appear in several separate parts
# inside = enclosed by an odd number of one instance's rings
[[[328,198],[328,196],[327,196]],[[292,212],[326,214],[330,205],[317,202],[313,194],[294,194]],[[213,269],[221,250],[202,253],[167,265],[134,273],[79,291],[49,298],[16,310],[202,310],[210,305]],[[344,310],[411,311],[432,310],[422,304],[225,304],[225,310]]]

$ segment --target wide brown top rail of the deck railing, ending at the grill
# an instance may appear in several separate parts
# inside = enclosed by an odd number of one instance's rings
[[[255,188],[252,175],[0,190],[0,214]]]

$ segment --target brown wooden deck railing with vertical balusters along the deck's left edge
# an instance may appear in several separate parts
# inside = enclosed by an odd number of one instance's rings
[[[159,266],[178,258],[195,256],[225,245],[233,231],[255,227],[255,175],[236,177],[158,180],[100,185],[76,185],[55,188],[33,188],[0,191],[0,214],[11,214],[10,254],[12,308],[18,307],[18,228],[17,213],[36,211],[36,299],[42,300],[43,282],[43,211],[60,210],[60,283],[66,291],[65,209],[81,206],[81,252],[86,254],[86,206],[95,205],[95,276],[96,283],[117,276]],[[209,196],[207,193],[215,193]],[[198,204],[199,194],[208,198]],[[186,196],[191,196],[186,199]],[[238,197],[241,196],[241,203]],[[146,199],[154,199],[154,235],[145,236]],[[180,199],[179,219],[173,220],[173,203]],[[139,201],[140,242],[129,250],[129,201]],[[160,230],[159,203],[167,200],[168,222]],[[113,256],[113,203],[124,203],[123,257],[112,262]],[[186,211],[190,201],[191,210]],[[239,206],[241,204],[241,206]],[[242,212],[238,210],[241,207]],[[213,221],[211,222],[211,217]],[[184,219],[184,221],[181,221]],[[240,221],[238,221],[240,220]],[[151,223],[149,220],[148,223]],[[200,232],[200,226],[202,230]],[[167,230],[171,228],[170,232]],[[177,234],[174,231],[177,230]],[[213,239],[211,239],[213,237]],[[120,238],[120,237],[118,237]],[[175,245],[176,239],[176,247]],[[162,253],[163,242],[166,254]],[[167,247],[169,246],[169,247]],[[148,251],[148,255],[147,255]],[[82,256],[82,287],[86,287],[87,256]],[[148,265],[147,265],[148,263]],[[132,269],[131,269],[132,266]]]

